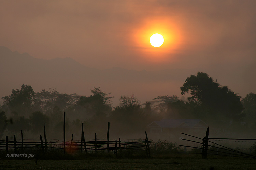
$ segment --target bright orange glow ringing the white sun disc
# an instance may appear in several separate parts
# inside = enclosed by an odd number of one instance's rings
[[[175,25],[175,20],[172,21],[170,18],[155,18],[154,20],[147,18],[133,31],[131,37],[133,47],[144,62],[165,62],[166,60],[174,62],[175,58],[172,56],[179,51],[178,48],[182,42],[180,29]],[[162,44],[155,45],[151,43],[150,38],[155,33],[162,35],[160,41]]]

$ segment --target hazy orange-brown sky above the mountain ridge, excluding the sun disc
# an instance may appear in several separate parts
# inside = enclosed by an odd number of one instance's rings
[[[255,0],[1,0],[0,45],[135,70],[255,62]],[[149,38],[161,33],[155,48]]]

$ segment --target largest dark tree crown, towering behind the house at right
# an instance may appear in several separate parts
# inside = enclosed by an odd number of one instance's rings
[[[214,82],[206,73],[198,72],[197,75],[188,77],[181,87],[181,94],[184,95],[189,90],[191,93],[189,102],[200,106],[202,113],[208,113],[204,116],[225,115],[233,120],[241,118],[243,111],[241,96],[227,86],[221,86],[217,80]]]

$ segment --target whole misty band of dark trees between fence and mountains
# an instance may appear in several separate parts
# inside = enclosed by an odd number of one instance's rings
[[[175,95],[157,96],[141,104],[134,95],[120,96],[119,106],[113,107],[114,97],[100,87],[91,89],[90,96],[82,96],[62,94],[52,88],[36,93],[30,85],[23,84],[21,89],[2,97],[0,135],[21,129],[30,136],[38,135],[46,123],[49,135],[60,138],[63,111],[68,113],[67,131],[77,136],[81,135],[82,122],[87,133],[97,131],[99,136],[104,136],[107,122],[116,127],[112,133],[133,134],[161,119],[202,119],[216,128],[255,129],[256,94],[242,98],[203,72],[188,77],[180,90],[182,95],[190,93],[190,97],[181,100]]]

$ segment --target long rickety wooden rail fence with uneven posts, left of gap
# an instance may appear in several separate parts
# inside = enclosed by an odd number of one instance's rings
[[[21,139],[16,140],[16,136],[13,135],[14,140],[8,140],[8,136],[6,136],[5,140],[0,140],[0,148],[6,149],[6,154],[8,154],[9,149],[12,148],[14,153],[23,153],[26,149],[32,148],[40,148],[43,153],[47,152],[47,149],[63,149],[64,154],[66,150],[81,150],[88,154],[88,152],[95,152],[97,153],[98,150],[105,150],[107,152],[114,152],[117,155],[117,151],[119,153],[122,150],[145,150],[147,157],[150,157],[150,143],[148,141],[147,132],[145,131],[146,138],[144,140],[137,139],[137,140],[110,140],[109,139],[109,131],[110,131],[110,123],[108,123],[108,131],[107,131],[107,140],[99,140],[97,139],[97,134],[95,133],[95,140],[85,140],[84,136],[84,123],[82,123],[82,130],[81,130],[81,141],[73,141],[73,134],[72,139],[66,141],[65,139],[65,115],[64,112],[64,124],[63,124],[63,140],[58,139],[47,139],[46,132],[45,132],[45,124],[44,124],[44,141],[43,137],[40,135],[39,139],[30,139],[30,141],[23,138],[23,133],[21,130]],[[25,140],[25,141],[24,141]],[[52,141],[49,141],[52,140]],[[53,141],[55,140],[55,141]]]

